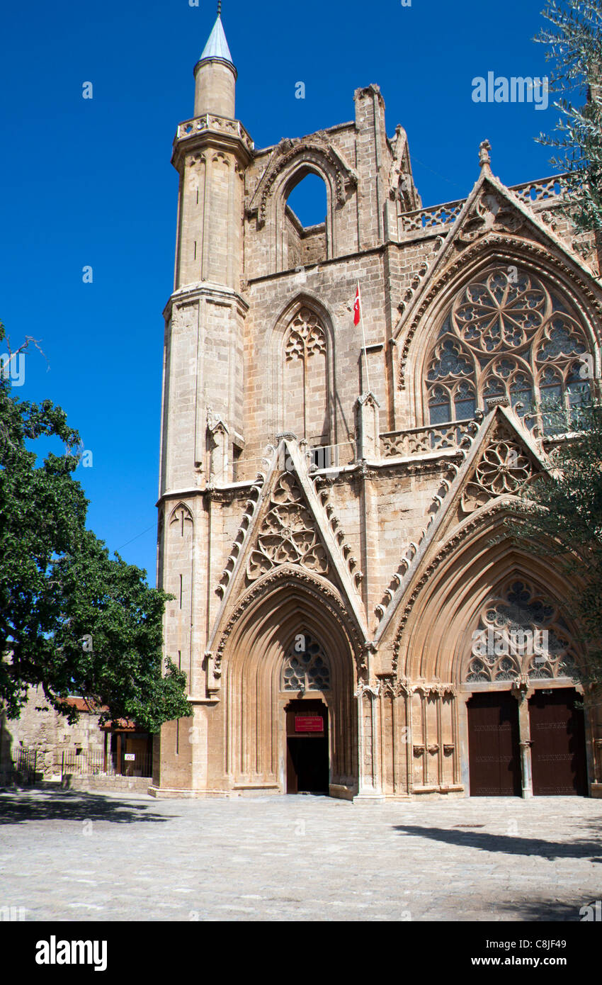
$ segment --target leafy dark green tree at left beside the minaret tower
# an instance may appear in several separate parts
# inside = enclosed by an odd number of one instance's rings
[[[44,438],[60,453],[40,462],[34,446]],[[78,713],[66,698],[80,694],[104,706],[101,722],[129,719],[156,732],[191,713],[185,675],[170,660],[162,667],[162,615],[173,596],[109,558],[86,529],[88,500],[74,479],[81,447],[59,407],[19,400],[0,373],[0,704],[18,717],[28,688],[41,685],[70,722]]]

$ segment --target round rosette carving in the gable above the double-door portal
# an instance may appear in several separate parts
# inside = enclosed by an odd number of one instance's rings
[[[530,460],[515,441],[493,440],[462,494],[462,509],[469,513],[493,496],[515,494],[533,475]]]

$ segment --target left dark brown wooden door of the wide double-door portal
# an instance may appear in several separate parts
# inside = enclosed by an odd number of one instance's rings
[[[519,797],[518,704],[510,691],[473,694],[468,710],[471,797]]]

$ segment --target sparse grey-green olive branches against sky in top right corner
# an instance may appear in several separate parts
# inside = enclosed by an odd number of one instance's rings
[[[555,63],[549,89],[561,117],[555,134],[538,141],[559,154],[551,164],[566,172],[565,214],[576,230],[602,232],[602,0],[550,0],[542,11],[550,23],[534,40],[548,45]],[[576,106],[569,94],[586,101]],[[563,95],[564,94],[564,95]]]

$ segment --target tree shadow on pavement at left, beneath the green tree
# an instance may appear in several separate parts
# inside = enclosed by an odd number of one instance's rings
[[[24,821],[170,821],[151,811],[151,805],[118,800],[83,791],[44,791],[0,794],[0,824]]]

